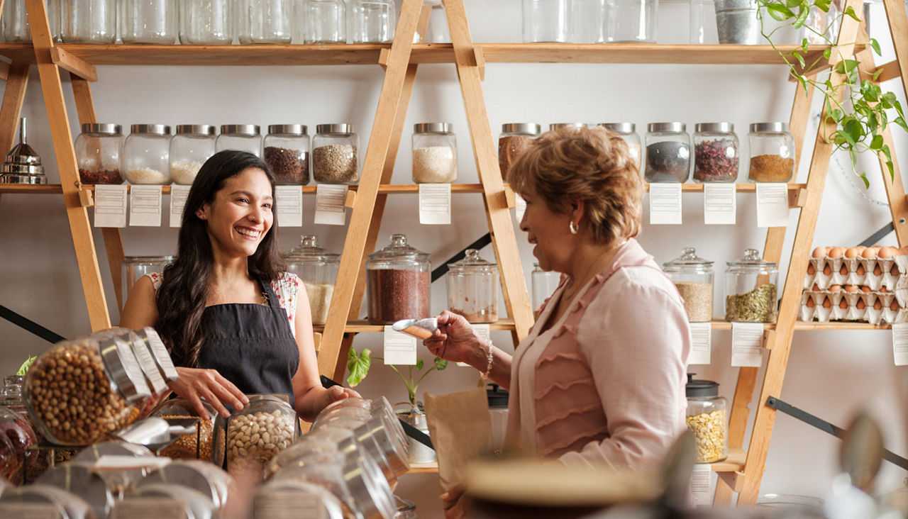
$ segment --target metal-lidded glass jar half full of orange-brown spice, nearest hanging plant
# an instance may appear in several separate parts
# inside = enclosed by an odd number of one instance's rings
[[[795,176],[795,137],[787,122],[755,122],[747,134],[750,172],[755,182],[787,182]]]

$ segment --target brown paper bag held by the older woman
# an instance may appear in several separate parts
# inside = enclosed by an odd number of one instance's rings
[[[429,436],[439,458],[441,490],[463,485],[467,464],[491,452],[492,425],[485,387],[433,397],[426,393]]]

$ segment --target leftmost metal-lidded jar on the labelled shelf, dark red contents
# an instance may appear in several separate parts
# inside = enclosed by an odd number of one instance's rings
[[[75,162],[84,184],[122,184],[120,150],[123,127],[119,124],[86,123],[75,138]]]

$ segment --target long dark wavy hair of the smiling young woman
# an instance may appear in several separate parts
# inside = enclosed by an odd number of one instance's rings
[[[196,214],[205,203],[214,201],[224,182],[250,168],[265,172],[274,196],[274,174],[262,159],[249,152],[225,150],[202,164],[183,209],[183,223],[177,242],[176,260],[163,271],[157,292],[158,322],[155,325],[177,366],[196,367],[205,330],[213,323],[202,322],[212,276],[213,252],[205,220]],[[271,211],[274,211],[272,205]],[[269,282],[284,270],[278,252],[277,215],[271,230],[249,258],[252,279]]]

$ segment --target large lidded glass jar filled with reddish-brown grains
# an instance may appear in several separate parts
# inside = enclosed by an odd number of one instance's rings
[[[429,254],[410,247],[405,235],[392,234],[390,245],[366,261],[370,324],[431,317],[431,270]]]

